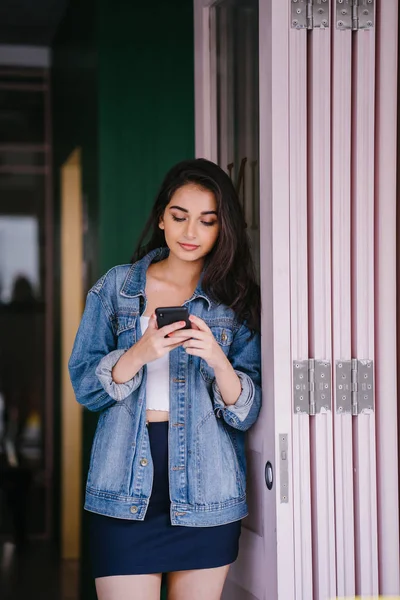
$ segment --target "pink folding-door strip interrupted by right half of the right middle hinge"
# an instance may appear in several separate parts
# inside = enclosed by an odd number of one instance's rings
[[[353,37],[353,356],[375,358],[375,30]],[[353,420],[356,593],[378,594],[375,413]]]

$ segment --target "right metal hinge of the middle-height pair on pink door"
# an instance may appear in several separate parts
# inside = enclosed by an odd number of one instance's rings
[[[338,360],[336,362],[336,412],[357,416],[373,410],[373,361]]]

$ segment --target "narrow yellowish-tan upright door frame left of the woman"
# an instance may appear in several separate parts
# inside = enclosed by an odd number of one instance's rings
[[[61,556],[81,547],[82,407],[75,401],[68,360],[83,312],[81,150],[61,167]]]

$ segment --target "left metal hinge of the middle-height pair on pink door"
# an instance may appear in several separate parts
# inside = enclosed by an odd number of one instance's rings
[[[316,415],[332,407],[332,376],[329,360],[293,362],[294,412]]]

